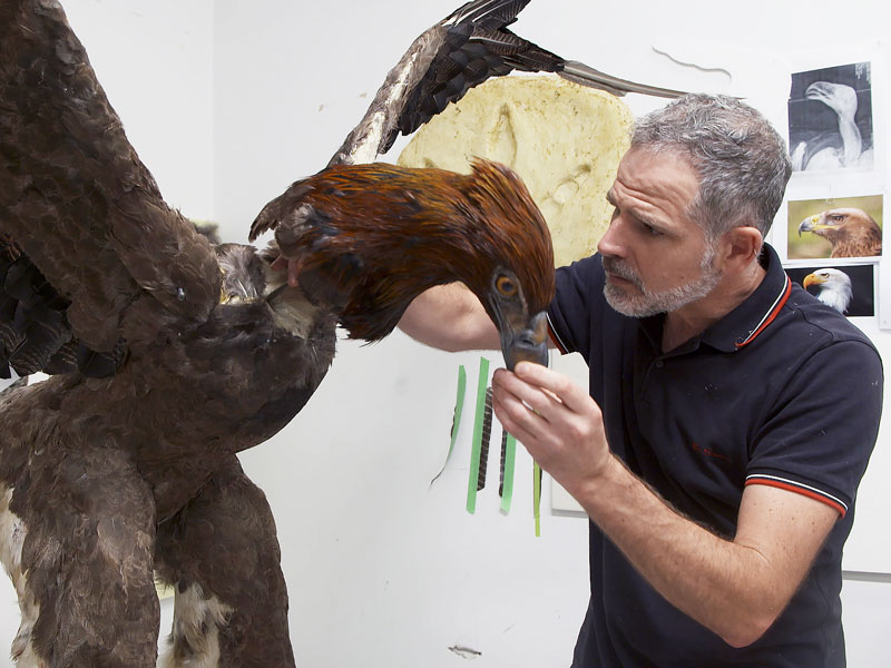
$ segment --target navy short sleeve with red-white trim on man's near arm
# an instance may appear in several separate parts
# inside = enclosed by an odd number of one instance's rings
[[[756,433],[745,483],[811,497],[844,517],[875,445],[882,385],[881,358],[864,342],[814,353]]]

